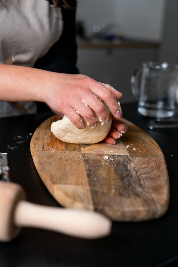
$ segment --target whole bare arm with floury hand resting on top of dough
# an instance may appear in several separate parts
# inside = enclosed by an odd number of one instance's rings
[[[116,119],[121,118],[116,99],[122,94],[113,88],[106,88],[88,76],[0,65],[1,101],[45,102],[55,111],[67,115],[78,128],[85,127],[80,115],[90,127],[97,125],[93,111],[101,121],[108,121],[104,104],[96,96],[104,100]]]

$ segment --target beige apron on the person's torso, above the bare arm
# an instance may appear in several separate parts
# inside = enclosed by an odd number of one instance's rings
[[[14,65],[33,67],[60,38],[59,7],[46,0],[6,0],[0,4],[0,62],[12,54]]]

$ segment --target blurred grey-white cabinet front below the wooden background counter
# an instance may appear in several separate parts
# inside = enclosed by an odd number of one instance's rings
[[[123,93],[120,103],[136,101],[130,78],[141,62],[154,60],[154,48],[78,49],[77,67],[81,74],[112,85]]]

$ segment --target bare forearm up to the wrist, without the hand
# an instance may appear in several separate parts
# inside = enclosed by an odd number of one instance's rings
[[[45,70],[0,64],[0,101],[43,101]]]

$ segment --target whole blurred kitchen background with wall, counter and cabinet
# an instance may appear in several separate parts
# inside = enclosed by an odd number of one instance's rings
[[[144,61],[178,63],[178,0],[78,0],[77,67],[123,93]]]

